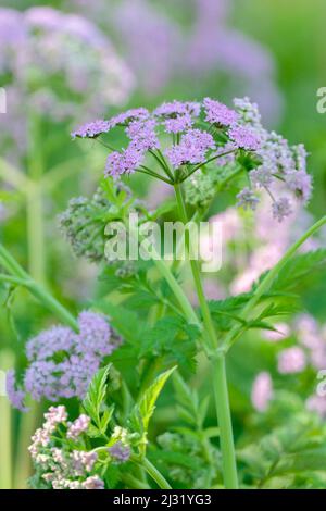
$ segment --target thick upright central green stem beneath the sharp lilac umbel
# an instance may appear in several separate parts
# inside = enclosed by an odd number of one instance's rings
[[[188,216],[186,211],[186,205],[184,202],[183,192],[179,185],[175,185],[175,196],[179,210],[179,215],[181,221],[187,224]],[[218,340],[216,337],[216,332],[213,325],[211,317],[210,309],[204,296],[199,263],[197,260],[191,260],[191,242],[188,237],[188,253],[190,256],[190,266],[195,281],[195,286],[199,299],[199,303],[202,311],[203,324],[205,327],[205,333],[208,340],[210,342],[211,349],[216,352],[218,348]],[[238,479],[237,479],[237,465],[236,465],[236,454],[235,454],[235,445],[233,437],[233,426],[231,426],[231,416],[229,408],[229,398],[227,391],[227,379],[225,371],[225,360],[222,357],[216,357],[214,353],[213,357],[213,378],[214,378],[214,396],[215,396],[215,408],[217,414],[217,421],[220,426],[220,440],[221,440],[221,450],[222,450],[222,465],[223,465],[223,475],[224,484],[227,489],[237,489]]]

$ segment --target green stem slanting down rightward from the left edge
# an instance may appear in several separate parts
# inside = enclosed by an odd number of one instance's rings
[[[0,265],[2,265],[21,285],[24,285],[39,302],[55,314],[63,323],[78,332],[75,317],[50,292],[36,283],[0,244]]]

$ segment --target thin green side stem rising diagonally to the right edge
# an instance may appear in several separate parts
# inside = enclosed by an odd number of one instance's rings
[[[273,284],[274,279],[277,277],[278,273],[283,267],[287,264],[287,262],[291,259],[291,257],[297,252],[297,250],[301,247],[301,245],[306,241],[316,230],[318,230],[323,225],[326,224],[326,215],[318,220],[314,225],[312,225],[298,241],[296,241],[284,254],[284,257],[278,261],[278,263],[266,274],[266,276],[262,279],[260,285],[254,291],[253,297],[248,301],[247,306],[242,310],[241,319],[248,321],[251,311],[258,304],[262,296],[269,289],[271,285]],[[242,326],[235,325],[227,334],[223,342],[223,351],[227,351],[238,336],[242,332]]]

